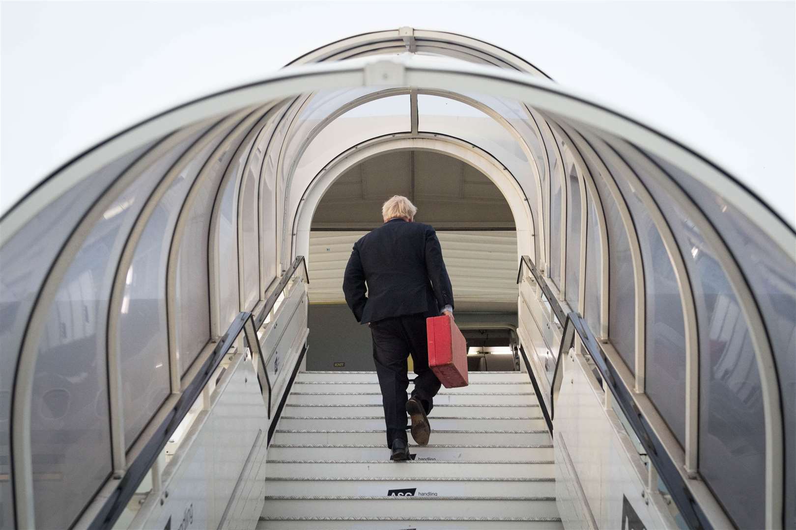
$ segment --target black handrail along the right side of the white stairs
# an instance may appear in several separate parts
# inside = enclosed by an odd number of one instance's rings
[[[552,291],[548,287],[547,282],[541,277],[530,258],[523,256],[520,261],[520,271],[517,274],[517,283],[521,280],[522,267],[525,265],[529,268],[533,277],[539,284],[545,296],[548,296],[550,306],[556,315],[564,315],[558,301],[552,296]],[[669,457],[661,439],[655,434],[655,431],[642,411],[636,404],[631,389],[622,381],[615,366],[608,359],[605,350],[600,342],[595,338],[595,335],[589,329],[586,321],[576,313],[571,311],[566,315],[564,322],[564,332],[561,335],[561,344],[559,347],[558,358],[556,359],[556,369],[553,373],[552,385],[550,387],[550,416],[555,419],[554,403],[555,398],[560,389],[560,364],[565,354],[575,344],[575,334],[577,333],[580,342],[587,350],[595,363],[595,376],[597,377],[600,385],[604,391],[611,391],[614,400],[622,409],[622,413],[627,418],[628,424],[633,429],[635,435],[638,437],[639,442],[644,447],[647,456],[650,458],[650,465],[653,465],[657,470],[658,476],[669,489],[669,494],[680,510],[681,516],[689,528],[712,528],[708,517],[705,516],[704,511],[696,504],[696,501],[691,494],[689,487],[686,486],[677,464]],[[529,366],[530,368],[530,366]]]

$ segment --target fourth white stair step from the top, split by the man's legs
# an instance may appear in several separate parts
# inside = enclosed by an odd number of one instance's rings
[[[382,416],[384,408],[381,404],[286,404],[282,411],[285,416],[318,417],[318,416]],[[435,418],[446,417],[537,417],[540,408],[524,404],[501,405],[470,405],[470,404],[435,404],[431,413]]]

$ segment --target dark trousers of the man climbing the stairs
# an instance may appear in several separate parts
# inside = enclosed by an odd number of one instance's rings
[[[426,317],[418,315],[396,316],[370,324],[373,335],[373,361],[381,387],[381,400],[384,404],[384,422],[387,424],[387,447],[392,448],[392,440],[407,440],[406,389],[407,358],[412,355],[415,365],[416,397],[426,414],[434,406],[434,397],[439,392],[439,379],[428,367],[428,342],[426,338]]]

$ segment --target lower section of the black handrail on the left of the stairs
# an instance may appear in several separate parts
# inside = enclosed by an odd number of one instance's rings
[[[138,489],[139,484],[146,477],[146,474],[162,453],[163,448],[166,447],[171,435],[174,434],[180,422],[188,414],[193,403],[200,396],[202,389],[210,381],[210,377],[213,377],[213,373],[218,368],[221,359],[227,354],[240,332],[243,331],[248,319],[251,318],[252,313],[248,311],[241,312],[235,317],[227,332],[213,349],[213,353],[205,359],[197,377],[194,377],[193,381],[189,382],[185,387],[177,403],[174,404],[166,418],[154,431],[154,435],[146,442],[138,457],[127,467],[127,472],[119,480],[119,484],[113,492],[107,497],[89,528],[104,529],[113,527],[116,520],[119,519],[119,516],[127,507],[127,503],[133,497],[135,490]]]

